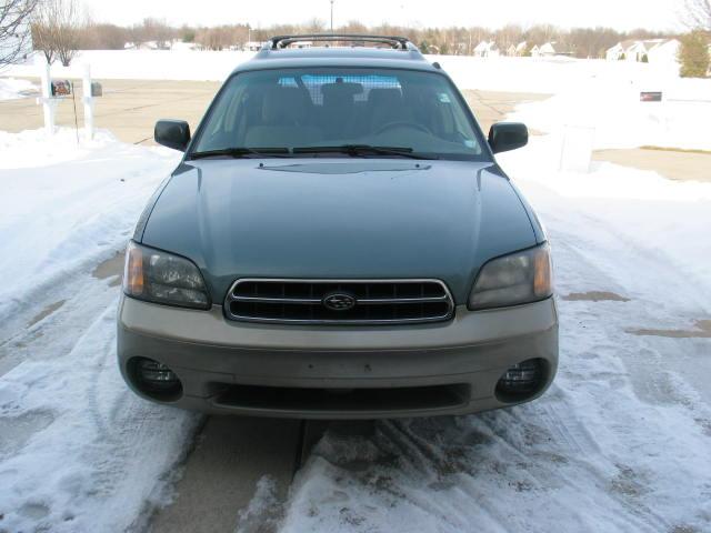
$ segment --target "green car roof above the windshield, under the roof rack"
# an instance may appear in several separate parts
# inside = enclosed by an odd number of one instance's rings
[[[419,50],[373,47],[263,48],[232,73],[288,68],[342,67],[407,69],[441,72],[439,66],[424,59]]]

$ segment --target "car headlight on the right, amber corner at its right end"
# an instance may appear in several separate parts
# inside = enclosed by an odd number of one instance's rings
[[[469,296],[469,309],[520,305],[552,294],[550,248],[543,244],[484,264]]]

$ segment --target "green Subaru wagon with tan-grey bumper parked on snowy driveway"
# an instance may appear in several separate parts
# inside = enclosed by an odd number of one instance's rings
[[[388,419],[508,408],[551,384],[550,247],[494,158],[528,130],[484,138],[407,39],[273,38],[194,135],[161,120],[154,138],[184,155],[126,254],[118,362],[140,396]]]

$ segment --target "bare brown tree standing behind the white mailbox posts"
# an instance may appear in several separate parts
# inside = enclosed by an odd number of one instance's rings
[[[32,30],[34,48],[42,50],[50,64],[59,59],[69,67],[79,50],[83,26],[77,0],[41,0]]]

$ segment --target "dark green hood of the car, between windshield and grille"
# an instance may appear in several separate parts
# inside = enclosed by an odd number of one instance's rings
[[[537,243],[497,165],[410,160],[186,162],[137,237],[194,261],[214,303],[238,278],[439,279],[464,303],[484,262]]]

